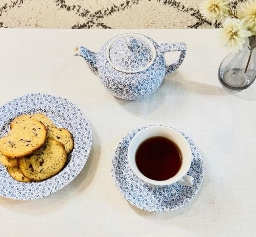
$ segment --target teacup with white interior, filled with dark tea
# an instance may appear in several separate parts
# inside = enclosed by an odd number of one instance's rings
[[[133,172],[148,184],[157,186],[171,185],[175,182],[185,186],[194,184],[194,178],[187,175],[192,161],[190,145],[183,135],[172,128],[152,126],[143,129],[132,138],[127,155]],[[146,167],[149,164],[151,167]],[[176,170],[172,171],[173,167],[176,167]],[[168,175],[169,171],[175,173],[171,177],[163,177],[164,180],[159,176],[162,173]]]

